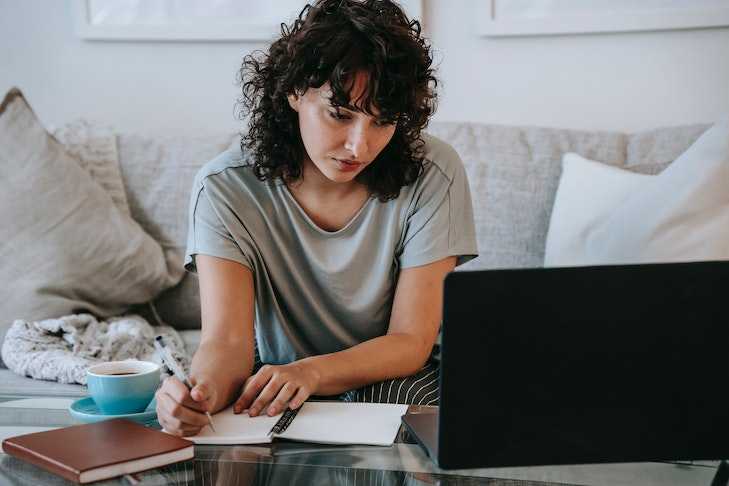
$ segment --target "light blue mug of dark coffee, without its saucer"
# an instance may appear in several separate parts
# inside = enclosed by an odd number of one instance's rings
[[[151,361],[110,361],[91,366],[86,384],[106,415],[143,412],[159,387],[160,369]]]

